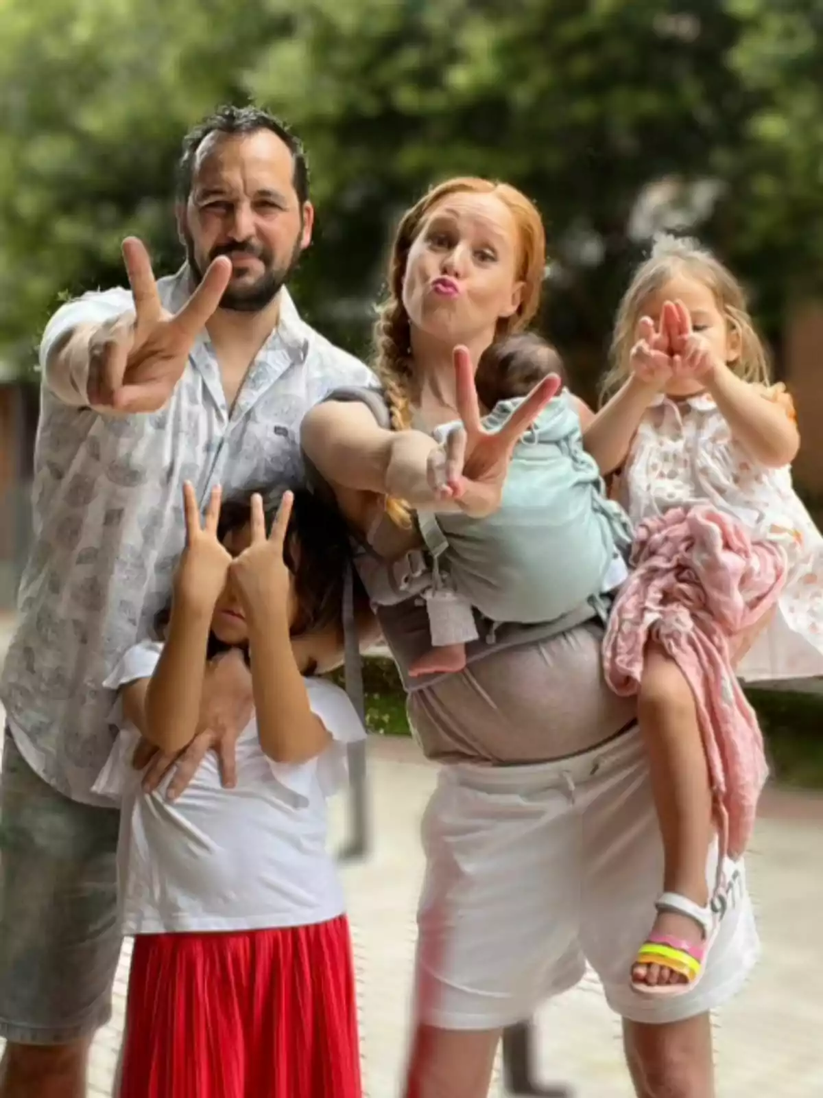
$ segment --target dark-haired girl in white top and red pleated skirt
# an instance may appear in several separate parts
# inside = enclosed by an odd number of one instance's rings
[[[305,674],[293,640],[340,618],[345,530],[286,493],[267,537],[261,496],[212,494],[188,544],[162,643],[109,680],[128,722],[97,788],[120,795],[120,907],[134,935],[120,1098],[361,1098],[343,895],[326,851],[326,798],[364,737],[339,687]],[[311,649],[311,642],[308,645]],[[206,662],[239,648],[255,713],[237,781],[206,757],[185,792],[140,787],[139,733],[166,752],[194,736]],[[138,731],[139,729],[139,731]]]

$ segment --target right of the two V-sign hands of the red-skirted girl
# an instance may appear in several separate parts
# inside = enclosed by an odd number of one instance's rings
[[[232,583],[247,616],[263,607],[267,614],[289,613],[291,572],[283,559],[283,548],[293,502],[291,492],[283,493],[267,538],[263,501],[257,493],[251,496],[251,544],[229,569]]]

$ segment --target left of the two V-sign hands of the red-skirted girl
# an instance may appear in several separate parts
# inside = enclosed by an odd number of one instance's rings
[[[221,489],[212,490],[203,525],[193,486],[183,485],[185,550],[174,579],[174,597],[192,609],[211,614],[226,585],[232,554],[217,540]]]

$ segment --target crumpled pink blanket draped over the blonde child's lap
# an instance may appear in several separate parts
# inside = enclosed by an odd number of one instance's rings
[[[701,505],[642,523],[631,563],[606,634],[607,682],[618,694],[635,694],[650,640],[677,663],[697,704],[721,851],[739,858],[768,769],[730,641],[777,602],[786,558],[777,546],[753,542],[729,515]]]

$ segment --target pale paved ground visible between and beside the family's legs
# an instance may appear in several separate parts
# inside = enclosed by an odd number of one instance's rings
[[[343,870],[360,976],[368,1098],[396,1098],[405,1055],[415,940],[414,909],[422,863],[417,824],[433,768],[408,741],[372,740],[374,849]],[[345,803],[335,806],[342,834]],[[749,859],[764,959],[748,988],[718,1023],[721,1098],[819,1098],[823,1095],[823,994],[814,972],[823,910],[821,800],[770,794]],[[114,1017],[95,1042],[91,1089],[108,1096],[123,1024],[128,956],[115,986]],[[599,986],[580,987],[540,1015],[539,1074],[571,1084],[575,1098],[631,1098],[617,1021]],[[499,1082],[496,1094],[503,1094]],[[331,1098],[331,1096],[329,1096]]]

